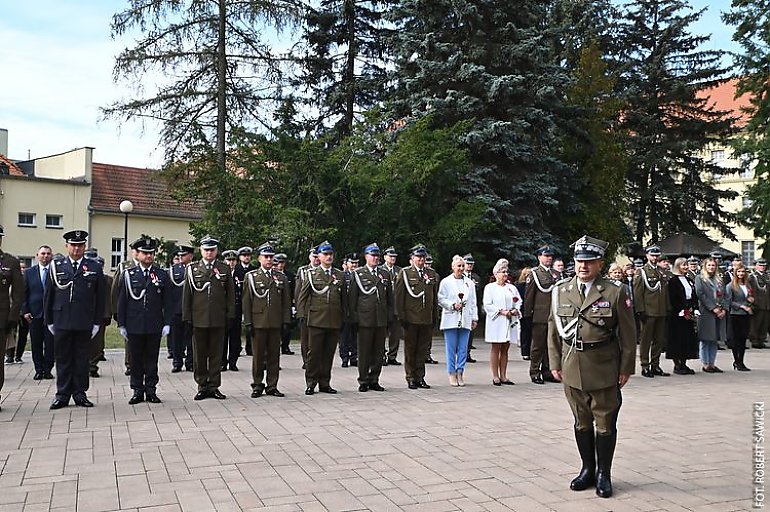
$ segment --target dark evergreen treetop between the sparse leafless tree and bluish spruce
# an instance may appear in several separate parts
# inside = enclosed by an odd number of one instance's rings
[[[334,140],[350,135],[353,124],[382,101],[386,85],[383,13],[392,0],[322,0],[306,14],[297,85],[307,89],[316,114],[311,128],[331,131]]]

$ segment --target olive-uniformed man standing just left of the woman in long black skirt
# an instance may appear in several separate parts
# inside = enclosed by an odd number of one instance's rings
[[[641,325],[639,352],[644,377],[668,377],[660,367],[660,354],[666,347],[668,279],[658,266],[660,247],[645,249],[647,263],[634,275],[634,309]]]

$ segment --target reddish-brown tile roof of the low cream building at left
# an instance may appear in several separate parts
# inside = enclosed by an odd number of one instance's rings
[[[120,213],[120,202],[128,199],[134,204],[133,214],[201,218],[201,206],[173,199],[154,169],[95,162],[91,169],[91,207],[95,211]]]

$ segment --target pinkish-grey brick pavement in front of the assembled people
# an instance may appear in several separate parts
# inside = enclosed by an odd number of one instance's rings
[[[514,357],[517,385],[493,387],[477,344],[467,387],[429,365],[433,389],[410,391],[403,367],[389,366],[385,393],[359,393],[356,369],[337,361],[340,393],[307,397],[300,356],[284,356],[283,399],[251,399],[251,358],[241,357],[240,372],[223,374],[227,400],[194,402],[192,374],[170,373],[164,358],[164,403],[137,406],[127,403],[122,355],[110,352],[91,380],[96,407],[58,411],[48,410],[53,381],[32,380],[27,353],[6,366],[0,511],[751,508],[752,404],[768,397],[770,350],[748,352],[750,373],[728,370],[720,352],[722,375],[632,378],[615,496],[604,500],[569,490],[578,456],[561,386],[531,384],[528,363]]]

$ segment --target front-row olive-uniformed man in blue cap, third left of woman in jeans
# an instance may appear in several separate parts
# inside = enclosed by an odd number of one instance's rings
[[[334,352],[347,312],[347,290],[342,271],[332,268],[334,247],[328,241],[318,246],[320,265],[305,271],[297,311],[307,322],[308,350],[305,370],[306,395],[315,387],[321,393],[336,393],[331,387]]]

